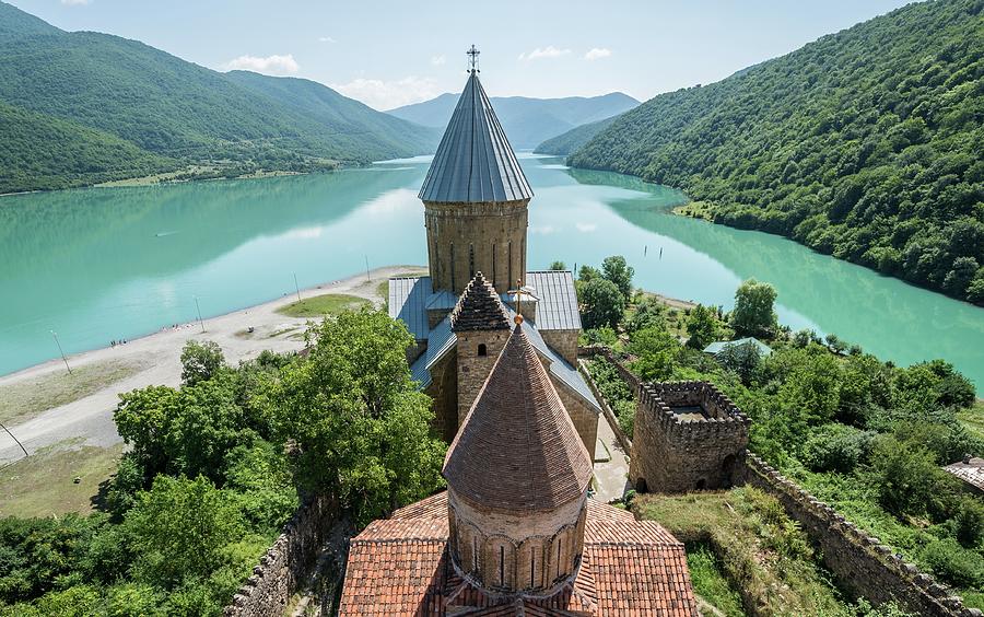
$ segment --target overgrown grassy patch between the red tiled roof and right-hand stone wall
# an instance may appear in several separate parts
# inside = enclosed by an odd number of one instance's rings
[[[722,578],[754,615],[851,615],[806,535],[774,498],[751,487],[683,496],[637,496],[636,516],[657,521],[686,543],[702,543]],[[698,557],[696,559],[701,559]],[[708,595],[728,594],[704,567]],[[700,591],[698,593],[701,593]],[[702,594],[703,595],[703,594]],[[707,598],[708,602],[711,598]],[[718,607],[727,615],[724,607]],[[740,615],[741,613],[737,613]]]

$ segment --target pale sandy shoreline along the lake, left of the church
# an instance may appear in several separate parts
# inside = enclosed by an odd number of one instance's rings
[[[366,280],[366,275],[363,272],[304,289],[301,291],[301,295],[311,298],[323,293],[347,293],[379,304],[384,300],[377,292],[380,282],[391,276],[424,271],[425,268],[421,266],[387,266],[372,270],[370,280]],[[294,301],[296,301],[296,296],[290,294],[210,317],[203,321],[204,334],[202,334],[199,323],[195,322],[183,324],[176,329],[166,328],[130,339],[126,345],[104,347],[69,356],[68,361],[73,369],[105,362],[122,362],[138,369],[132,375],[112,383],[84,398],[48,409],[8,428],[30,453],[73,438],[80,445],[107,446],[118,443],[120,438],[113,423],[113,410],[118,401],[118,393],[149,385],[179,385],[179,357],[181,348],[188,340],[216,342],[231,364],[255,358],[265,349],[277,352],[301,349],[303,341],[300,335],[304,331],[307,319],[288,317],[277,313],[278,308]],[[254,328],[251,334],[246,331],[250,327]],[[65,364],[60,358],[49,360],[0,376],[0,387],[32,383],[40,386],[46,379],[49,380],[51,375],[65,371]],[[5,433],[0,432],[0,465],[20,458],[22,455],[16,443]]]

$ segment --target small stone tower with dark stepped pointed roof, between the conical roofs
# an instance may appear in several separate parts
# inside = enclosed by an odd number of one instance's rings
[[[465,422],[475,397],[485,383],[509,336],[509,319],[495,290],[481,272],[465,288],[452,312],[452,331],[458,338],[458,419]]]

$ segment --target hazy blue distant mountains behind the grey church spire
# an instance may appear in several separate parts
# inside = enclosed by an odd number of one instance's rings
[[[390,109],[387,114],[425,127],[444,129],[457,101],[458,94],[447,93],[423,103]],[[621,92],[566,98],[493,96],[491,101],[509,143],[517,149],[535,148],[574,127],[616,116],[639,105],[639,101]]]

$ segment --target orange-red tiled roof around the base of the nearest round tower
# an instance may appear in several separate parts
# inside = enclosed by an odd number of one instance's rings
[[[658,524],[588,501],[577,578],[548,598],[499,598],[447,556],[447,493],[375,521],[352,539],[339,615],[698,615],[683,545]]]

